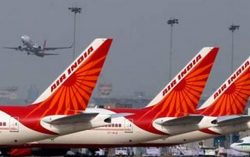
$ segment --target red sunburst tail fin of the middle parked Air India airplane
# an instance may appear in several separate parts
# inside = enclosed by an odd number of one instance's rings
[[[205,47],[145,108],[142,117],[178,117],[196,112],[219,48]]]

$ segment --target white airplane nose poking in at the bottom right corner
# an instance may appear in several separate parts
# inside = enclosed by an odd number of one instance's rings
[[[240,152],[250,153],[250,137],[244,137],[239,141],[232,143],[230,147]]]

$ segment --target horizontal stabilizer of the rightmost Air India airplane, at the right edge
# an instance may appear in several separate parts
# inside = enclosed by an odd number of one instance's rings
[[[236,125],[246,123],[249,120],[250,116],[248,115],[222,116],[217,118],[216,124],[218,124],[218,126]]]

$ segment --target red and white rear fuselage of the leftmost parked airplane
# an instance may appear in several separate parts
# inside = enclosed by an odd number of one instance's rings
[[[100,127],[109,115],[100,115],[87,122],[52,125],[48,120],[60,119],[66,115],[29,116],[33,107],[0,107],[0,147],[23,145],[27,142],[70,134],[79,130]]]

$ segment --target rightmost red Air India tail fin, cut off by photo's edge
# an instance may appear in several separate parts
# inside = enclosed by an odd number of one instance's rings
[[[197,110],[206,116],[242,114],[250,95],[250,57]]]

